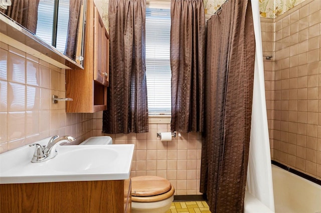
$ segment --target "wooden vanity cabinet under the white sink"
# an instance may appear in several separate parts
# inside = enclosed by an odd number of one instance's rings
[[[131,212],[131,181],[0,184],[0,212]]]

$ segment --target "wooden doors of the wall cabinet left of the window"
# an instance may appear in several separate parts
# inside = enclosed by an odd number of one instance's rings
[[[94,80],[104,84],[104,51],[105,51],[105,26],[95,7],[94,14]]]

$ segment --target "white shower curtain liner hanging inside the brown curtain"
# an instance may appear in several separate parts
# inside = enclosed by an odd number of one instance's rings
[[[252,0],[256,43],[247,190],[274,211],[270,142],[267,126],[261,25],[258,0]]]

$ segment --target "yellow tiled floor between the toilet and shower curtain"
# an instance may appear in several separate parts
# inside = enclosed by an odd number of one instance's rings
[[[205,201],[173,202],[171,209],[166,213],[211,213]]]

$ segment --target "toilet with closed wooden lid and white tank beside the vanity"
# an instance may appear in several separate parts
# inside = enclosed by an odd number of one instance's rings
[[[112,144],[110,136],[89,137],[79,145]],[[165,213],[174,200],[175,188],[159,176],[131,177],[131,212]]]

